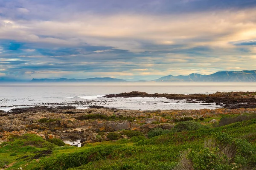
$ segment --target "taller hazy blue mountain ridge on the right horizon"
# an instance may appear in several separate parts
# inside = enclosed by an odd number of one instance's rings
[[[219,71],[214,74],[189,74],[188,76],[165,76],[155,82],[256,82],[256,70]]]

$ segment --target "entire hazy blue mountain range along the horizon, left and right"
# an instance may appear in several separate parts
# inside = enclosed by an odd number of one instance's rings
[[[0,82],[15,82],[16,80],[1,79]],[[17,81],[16,81],[17,82]],[[110,77],[95,77],[88,79],[32,79],[30,82],[129,82],[124,79]],[[252,71],[218,71],[214,74],[196,74],[187,76],[164,76],[151,81],[140,80],[137,82],[256,82],[256,70]]]

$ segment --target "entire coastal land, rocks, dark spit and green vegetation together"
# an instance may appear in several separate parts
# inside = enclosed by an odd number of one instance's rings
[[[144,169],[180,170],[184,162],[196,166],[205,152],[213,154],[213,158],[224,154],[223,158],[231,161],[223,159],[221,164],[234,169],[241,163],[236,155],[241,157],[244,148],[249,149],[242,160],[249,159],[239,166],[253,169],[250,167],[256,165],[255,94],[130,92],[105,96],[107,99],[166,97],[189,104],[218,105],[215,109],[128,110],[101,105],[79,109],[57,103],[55,107],[41,105],[0,111],[0,169],[91,170],[114,166],[112,169],[121,170],[141,169],[142,162]],[[221,149],[223,153],[219,152]],[[219,166],[222,157],[210,160],[217,160],[215,164]],[[204,164],[209,166],[207,162]]]

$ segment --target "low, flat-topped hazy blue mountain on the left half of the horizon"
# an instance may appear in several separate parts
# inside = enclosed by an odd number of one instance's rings
[[[127,82],[123,79],[114,79],[110,77],[95,77],[89,79],[32,79],[31,82]]]

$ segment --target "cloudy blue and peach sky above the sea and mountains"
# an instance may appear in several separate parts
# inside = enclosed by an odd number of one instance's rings
[[[0,0],[0,78],[256,70],[256,0]]]

